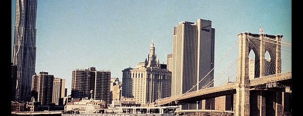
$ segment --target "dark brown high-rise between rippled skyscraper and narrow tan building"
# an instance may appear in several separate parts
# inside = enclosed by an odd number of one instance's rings
[[[48,105],[52,101],[53,79],[48,72],[40,72],[32,77],[32,96],[41,105]]]

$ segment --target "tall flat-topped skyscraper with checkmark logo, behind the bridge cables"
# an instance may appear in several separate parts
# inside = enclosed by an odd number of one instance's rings
[[[214,36],[209,20],[182,21],[173,28],[172,96],[213,86]],[[202,102],[181,108],[202,109]]]

